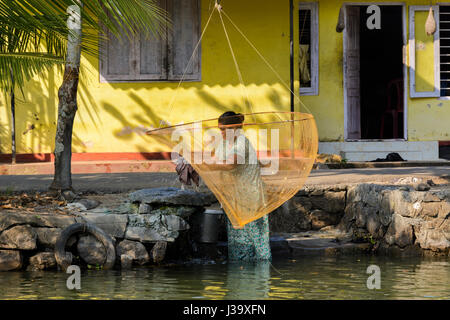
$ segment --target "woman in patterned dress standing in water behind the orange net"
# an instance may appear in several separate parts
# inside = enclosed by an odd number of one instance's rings
[[[216,158],[224,164],[210,165],[210,169],[220,170],[224,183],[232,194],[233,201],[249,213],[257,213],[264,206],[265,196],[261,178],[261,165],[250,141],[242,130],[244,115],[228,111],[218,120],[223,137],[223,148],[218,148]],[[271,261],[268,215],[235,229],[227,224],[228,259],[230,261]]]

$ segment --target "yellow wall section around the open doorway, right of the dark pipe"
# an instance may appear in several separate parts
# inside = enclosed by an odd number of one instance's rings
[[[308,2],[308,1],[301,1]],[[319,95],[302,97],[314,114],[321,141],[344,140],[343,33],[335,31],[342,0],[319,2]],[[351,2],[393,2],[351,1]],[[439,1],[432,1],[436,4]],[[409,6],[430,5],[430,1],[407,0],[407,39]],[[426,14],[427,16],[428,14]],[[422,17],[423,18],[423,17]],[[423,19],[422,19],[423,20]],[[420,22],[419,22],[420,23]],[[425,24],[423,23],[423,29]],[[297,38],[297,35],[296,35]],[[428,60],[431,67],[433,60]],[[422,69],[423,68],[422,66]],[[429,68],[429,70],[432,68]],[[409,69],[407,71],[409,79]],[[432,74],[432,78],[433,78]],[[298,78],[298,76],[297,76]],[[450,140],[450,101],[438,98],[410,98],[408,80],[407,126],[409,141]]]

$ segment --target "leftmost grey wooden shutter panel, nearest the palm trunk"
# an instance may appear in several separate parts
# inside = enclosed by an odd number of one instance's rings
[[[100,80],[134,80],[134,44],[128,37],[118,39],[108,30],[104,30],[108,40],[100,42]]]

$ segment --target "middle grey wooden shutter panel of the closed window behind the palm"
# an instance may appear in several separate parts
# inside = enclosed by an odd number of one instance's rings
[[[157,0],[156,4],[167,10],[167,0]],[[136,80],[166,80],[167,79],[167,42],[160,36],[143,35],[135,42],[137,53]]]

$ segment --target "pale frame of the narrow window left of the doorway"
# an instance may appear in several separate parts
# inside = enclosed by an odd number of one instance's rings
[[[311,87],[302,88],[300,86],[300,95],[317,96],[319,95],[319,4],[317,2],[300,2],[300,10],[311,10]]]

